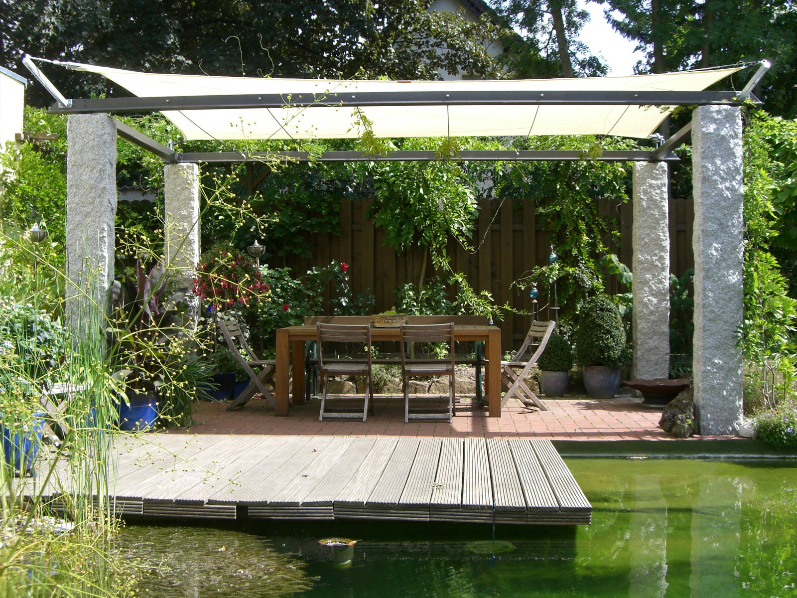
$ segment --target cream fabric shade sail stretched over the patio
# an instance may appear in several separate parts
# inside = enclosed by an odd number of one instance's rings
[[[139,97],[277,94],[279,108],[219,108],[163,111],[186,140],[281,140],[357,138],[370,122],[377,137],[612,135],[647,138],[671,106],[603,104],[414,104],[379,106],[291,105],[299,94],[390,92],[400,104],[411,92],[699,92],[740,70],[701,69],[681,73],[500,81],[353,81],[208,77],[137,73],[102,66],[99,73]],[[351,95],[348,95],[351,94]],[[332,104],[331,102],[329,104]],[[363,116],[365,119],[363,119]]]

